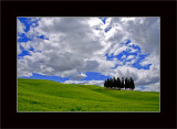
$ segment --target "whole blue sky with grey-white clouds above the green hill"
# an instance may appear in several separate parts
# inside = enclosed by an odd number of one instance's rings
[[[159,18],[18,18],[18,77],[103,86],[133,77],[159,92]]]

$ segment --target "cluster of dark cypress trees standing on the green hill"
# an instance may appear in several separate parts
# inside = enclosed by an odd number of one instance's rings
[[[135,83],[133,80],[133,78],[125,78],[122,77],[122,79],[119,79],[119,77],[115,78],[107,78],[105,82],[104,82],[104,87],[106,88],[117,88],[117,89],[121,89],[121,88],[125,88],[125,89],[134,89],[135,88]]]

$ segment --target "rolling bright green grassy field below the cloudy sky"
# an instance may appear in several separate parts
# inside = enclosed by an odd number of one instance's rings
[[[18,78],[18,111],[159,111],[159,93]]]

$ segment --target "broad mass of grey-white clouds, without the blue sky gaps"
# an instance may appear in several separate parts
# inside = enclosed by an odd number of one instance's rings
[[[23,28],[18,21],[18,31],[22,32]],[[112,29],[105,33],[104,30],[107,28]],[[49,40],[37,37],[39,35],[44,35]],[[137,86],[159,82],[158,18],[107,18],[105,24],[97,18],[41,18],[39,26],[30,28],[27,36],[32,41],[20,45],[27,51],[33,47],[34,52],[30,52],[31,56],[18,60],[19,76],[30,76],[31,73],[73,76],[71,79],[74,80],[66,83],[79,83],[76,79],[85,77],[85,72],[98,72],[110,76],[133,76]],[[122,62],[116,58],[106,61],[105,54],[117,55],[125,51],[128,45],[122,43],[127,39],[139,45],[143,53],[149,54],[142,65],[152,64],[150,69],[132,67],[131,64],[136,58],[116,69],[111,68]],[[20,49],[18,53],[21,53]],[[133,57],[129,55],[127,60]],[[94,80],[86,83],[94,84]]]

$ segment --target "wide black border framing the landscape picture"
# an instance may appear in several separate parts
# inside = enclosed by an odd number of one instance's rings
[[[175,128],[176,2],[3,1],[2,128]],[[17,17],[160,17],[160,112],[17,112]],[[170,56],[170,57],[169,57]],[[168,88],[166,85],[170,85]],[[114,118],[108,120],[107,118]],[[128,123],[126,118],[131,119]]]

